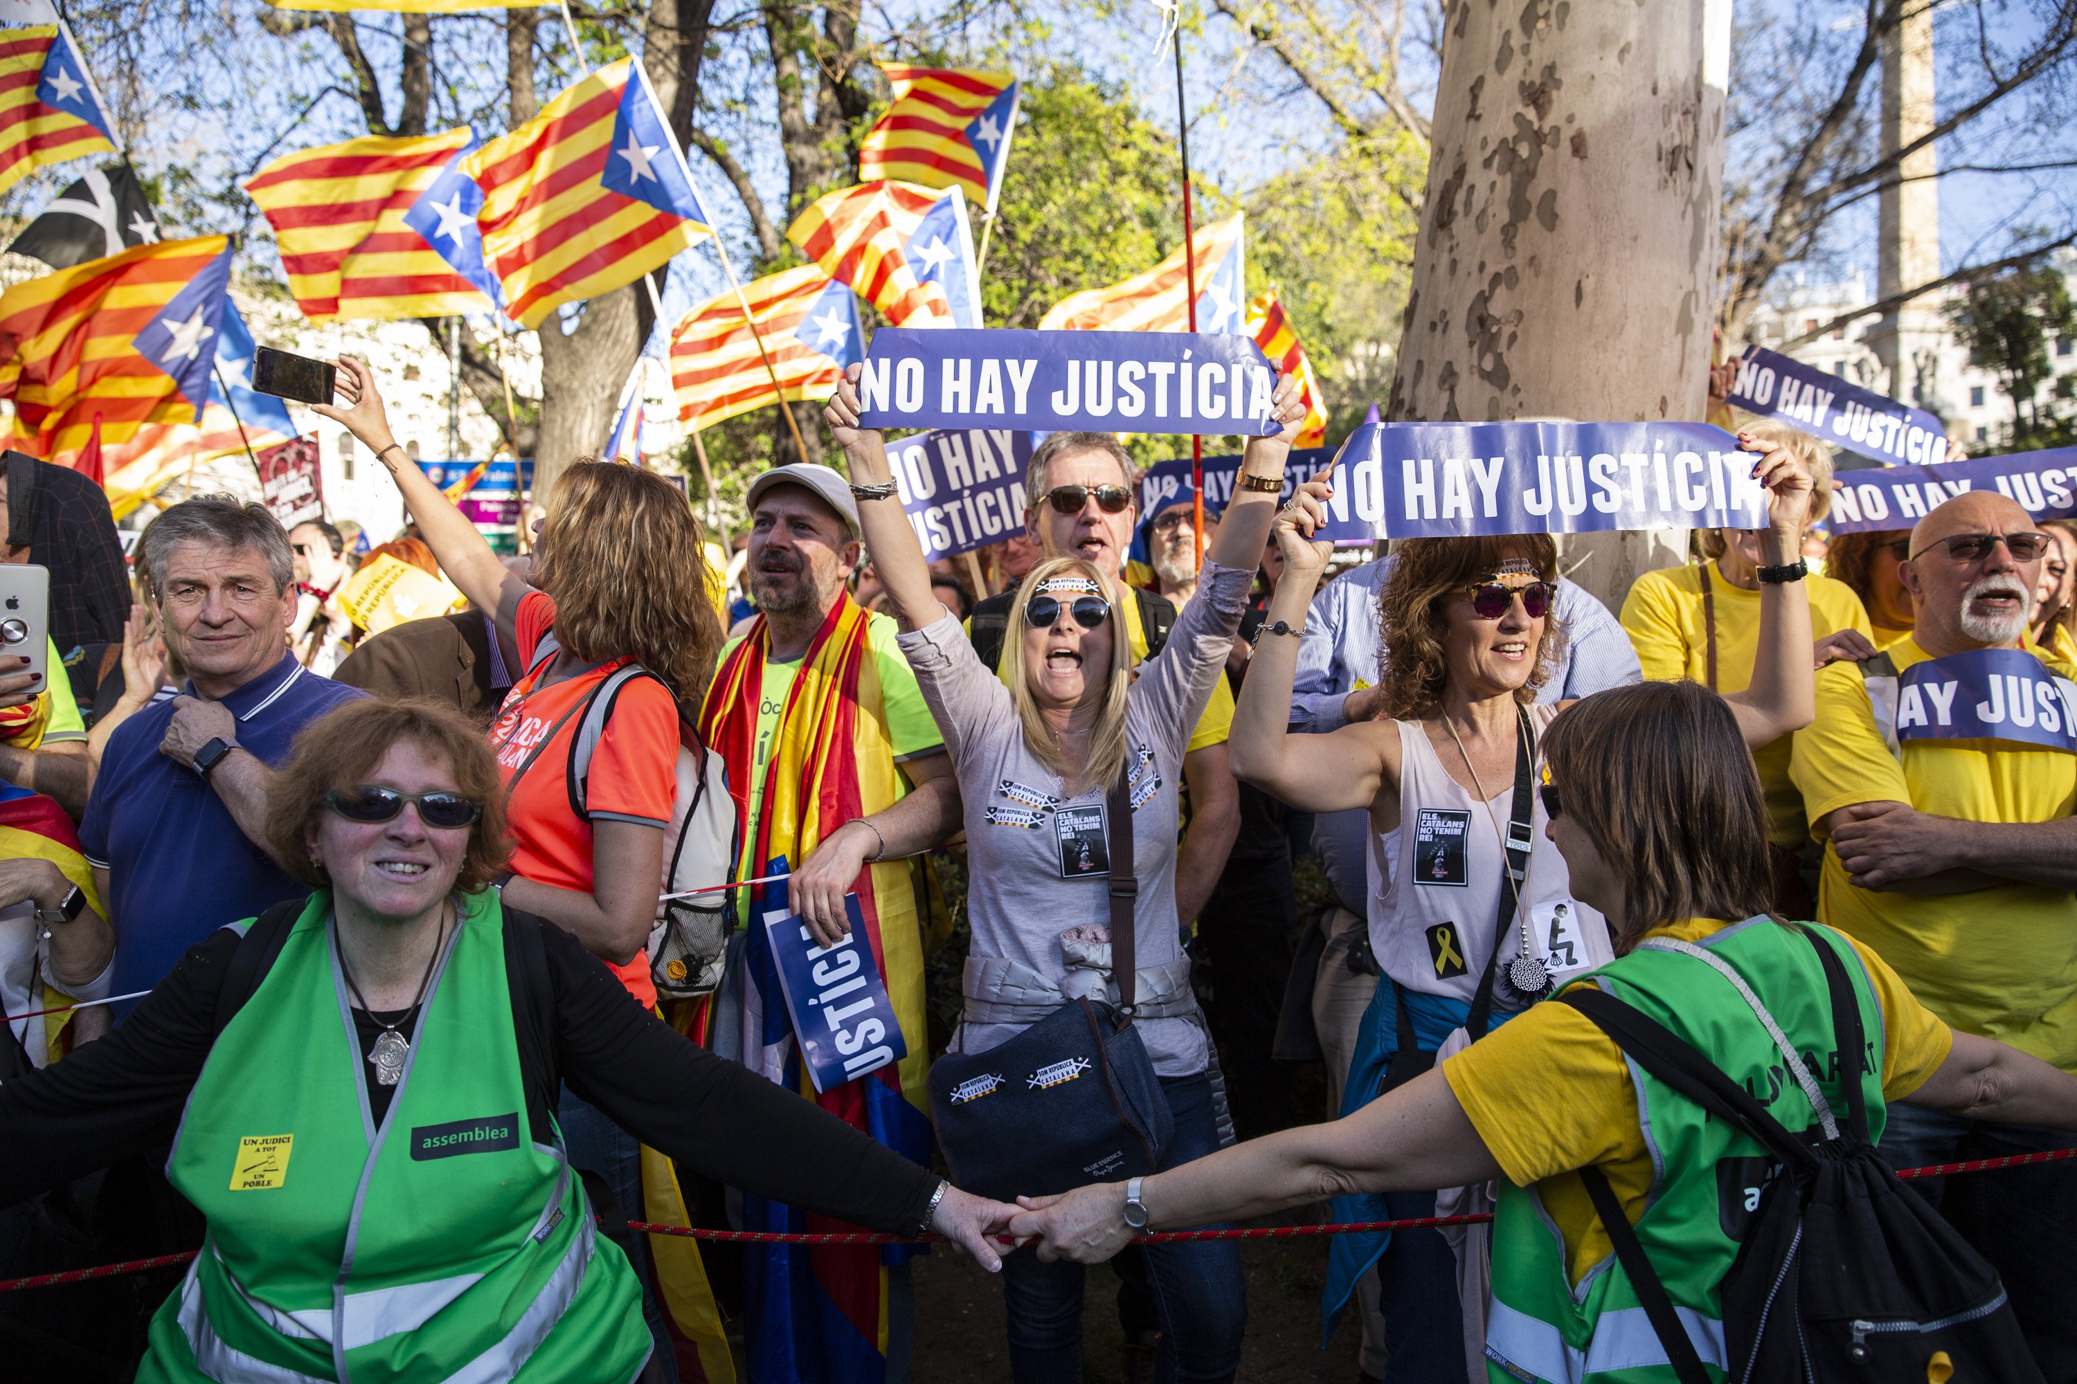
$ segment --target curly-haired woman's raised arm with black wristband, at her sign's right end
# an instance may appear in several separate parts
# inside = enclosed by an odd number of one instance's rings
[[[1738,434],[1738,446],[1759,452],[1765,444]],[[1768,531],[1759,535],[1761,566],[1788,566],[1803,558],[1803,527],[1811,513],[1811,473],[1778,446],[1763,452],[1753,479],[1768,488]],[[1817,714],[1817,676],[1811,668],[1811,600],[1805,581],[1759,583],[1759,647],[1753,681],[1724,697],[1751,749],[1772,745]]]

